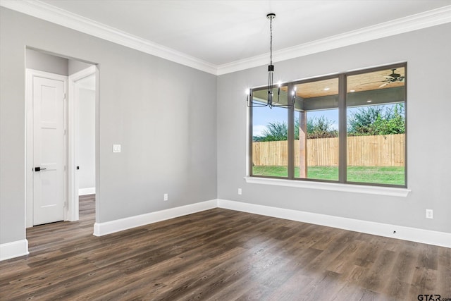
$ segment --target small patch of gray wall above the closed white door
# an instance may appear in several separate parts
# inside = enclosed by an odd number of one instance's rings
[[[3,42],[3,41],[2,41]],[[69,75],[69,60],[33,49],[26,49],[25,66],[30,69]]]

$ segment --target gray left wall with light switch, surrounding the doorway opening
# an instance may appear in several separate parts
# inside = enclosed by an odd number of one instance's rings
[[[0,243],[25,238],[25,47],[99,64],[97,222],[216,199],[214,75],[3,7],[0,36]]]

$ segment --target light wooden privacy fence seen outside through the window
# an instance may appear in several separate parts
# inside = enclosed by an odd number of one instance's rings
[[[404,166],[404,134],[347,137],[348,166]],[[299,166],[295,140],[295,166]],[[256,166],[287,166],[288,142],[252,143]],[[338,166],[338,138],[307,139],[308,166]]]

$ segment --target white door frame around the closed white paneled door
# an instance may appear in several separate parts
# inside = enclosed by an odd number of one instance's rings
[[[34,137],[34,110],[33,110],[33,78],[48,78],[50,80],[61,80],[64,82],[64,220],[68,220],[68,76],[40,70],[25,68],[25,227],[33,226],[33,137]]]

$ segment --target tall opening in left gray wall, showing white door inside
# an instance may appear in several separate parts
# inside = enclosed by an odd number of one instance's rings
[[[97,67],[27,48],[26,68],[26,226],[78,221],[79,171],[89,170],[93,175],[89,178],[89,193],[94,194],[96,186]],[[62,102],[58,102],[56,99],[60,99],[61,94]],[[89,101],[85,102],[87,94]],[[47,97],[44,102],[39,98],[42,95]],[[51,97],[55,98],[52,100]],[[80,102],[85,102],[81,111]],[[88,114],[86,106],[89,106]],[[37,112],[40,107],[44,111]],[[49,118],[55,120],[50,124]],[[61,121],[62,125],[59,125]],[[80,121],[89,123],[88,131],[83,131],[83,124],[80,132]],[[54,126],[56,123],[58,125]],[[62,136],[56,133],[62,133]],[[80,139],[80,135],[85,133],[90,137],[89,144],[85,143],[83,149],[89,149],[92,159],[80,166],[80,140],[87,140],[86,137]],[[85,183],[83,177],[82,183]]]

